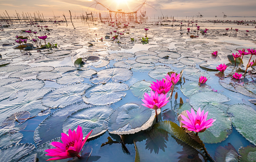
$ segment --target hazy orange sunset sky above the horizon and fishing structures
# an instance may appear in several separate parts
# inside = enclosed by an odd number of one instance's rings
[[[144,0],[98,0],[109,6],[112,10],[122,9],[123,11],[133,11]],[[72,14],[80,16],[83,12],[101,11],[105,9],[95,5],[94,0],[0,0],[0,15],[5,10],[9,16],[18,13],[39,11],[44,17],[62,16]],[[145,5],[147,16],[161,16],[161,10],[164,16],[174,17],[196,16],[199,12],[204,17],[222,17],[222,12],[228,16],[256,16],[256,0],[146,0],[146,3],[155,9]],[[89,6],[92,5],[90,8]],[[5,13],[6,14],[6,13]]]

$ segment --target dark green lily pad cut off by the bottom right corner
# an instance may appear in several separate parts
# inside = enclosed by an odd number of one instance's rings
[[[239,148],[240,162],[256,162],[256,146],[249,145]]]

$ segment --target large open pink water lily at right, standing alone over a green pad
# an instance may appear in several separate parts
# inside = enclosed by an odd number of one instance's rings
[[[208,116],[208,112],[204,114],[204,110],[201,112],[200,108],[198,109],[197,114],[195,113],[193,108],[191,108],[191,113],[187,110],[187,115],[189,119],[186,116],[181,115],[183,120],[185,120],[185,121],[181,120],[181,122],[185,124],[182,127],[187,128],[189,131],[194,131],[197,133],[204,132],[204,130],[206,130],[210,126],[213,126],[212,123],[216,120],[212,118],[209,120],[206,120]]]

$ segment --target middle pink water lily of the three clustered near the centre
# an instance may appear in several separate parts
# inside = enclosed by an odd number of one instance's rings
[[[162,80],[156,80],[156,82],[153,82],[151,86],[149,86],[153,91],[157,92],[158,94],[166,94],[170,91],[172,86],[172,83],[169,81],[165,81],[165,79]]]

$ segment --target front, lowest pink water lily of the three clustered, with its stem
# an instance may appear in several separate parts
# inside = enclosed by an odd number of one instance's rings
[[[158,116],[157,116],[157,109],[160,109],[164,107],[169,101],[169,97],[167,97],[167,94],[161,93],[160,95],[157,92],[150,91],[150,95],[147,93],[144,93],[144,99],[142,101],[143,106],[154,109],[156,113],[156,122],[158,122]]]

